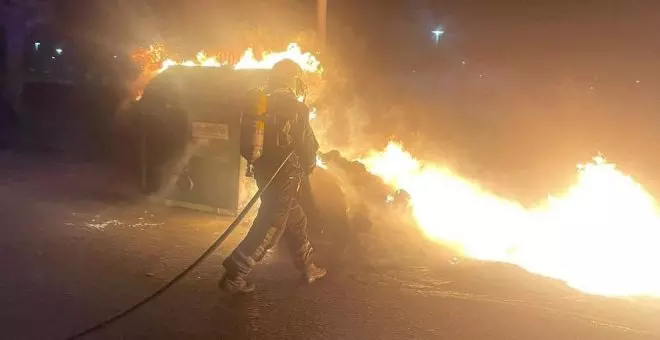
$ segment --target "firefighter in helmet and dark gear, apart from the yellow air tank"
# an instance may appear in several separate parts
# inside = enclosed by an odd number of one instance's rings
[[[291,150],[293,154],[263,192],[257,217],[245,239],[223,262],[225,274],[219,285],[230,294],[254,291],[246,277],[280,236],[305,282],[313,283],[327,273],[313,262],[307,216],[299,201],[302,181],[314,170],[318,151],[309,125],[309,108],[298,101],[304,95],[301,72],[295,62],[284,60],[273,67],[268,80],[263,150],[251,153],[259,155],[257,159],[248,159],[257,185],[263,187]]]

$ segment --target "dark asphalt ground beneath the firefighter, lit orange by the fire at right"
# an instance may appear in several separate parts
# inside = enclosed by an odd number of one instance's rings
[[[127,200],[94,165],[7,154],[0,164],[2,339],[64,339],[120,311],[229,223]],[[255,295],[228,298],[217,289],[220,263],[245,229],[165,295],[89,338],[660,339],[658,301],[588,296],[403,243],[368,253],[320,246],[330,274],[311,286],[275,253],[253,273]]]

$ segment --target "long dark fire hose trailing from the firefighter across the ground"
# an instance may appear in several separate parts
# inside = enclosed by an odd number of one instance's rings
[[[280,171],[282,170],[282,168],[284,167],[286,162],[289,160],[289,158],[291,158],[291,155],[293,155],[293,150],[291,150],[288,153],[288,155],[284,158],[284,160],[282,161],[280,166],[277,168],[277,170],[275,170],[275,173],[273,173],[273,175],[270,177],[268,182],[266,182],[266,184],[263,187],[259,188],[259,190],[254,194],[254,196],[252,196],[250,201],[245,205],[243,210],[241,210],[241,212],[236,216],[236,218],[229,225],[229,227],[227,227],[227,229],[222,233],[222,235],[220,235],[220,237],[218,237],[215,240],[215,242],[213,242],[213,244],[211,244],[211,246],[208,249],[206,249],[206,251],[204,251],[204,253],[202,253],[202,255],[200,255],[197,258],[197,260],[195,260],[186,269],[181,271],[178,275],[176,275],[169,282],[164,284],[160,289],[153,292],[151,295],[149,295],[146,298],[142,299],[141,301],[134,304],[133,306],[123,310],[122,312],[117,313],[114,316],[112,316],[112,317],[110,317],[110,318],[108,318],[108,319],[106,319],[106,320],[90,327],[90,328],[87,328],[84,331],[81,331],[79,333],[76,333],[73,336],[68,337],[67,340],[82,338],[83,336],[89,335],[93,332],[96,332],[96,331],[98,331],[102,328],[105,328],[105,327],[115,323],[116,321],[126,317],[127,315],[135,312],[140,307],[142,307],[142,306],[146,305],[147,303],[151,302],[152,300],[154,300],[155,298],[157,298],[158,296],[163,294],[165,291],[167,291],[175,283],[177,283],[178,281],[183,279],[186,275],[188,275],[193,269],[195,269],[199,264],[201,264],[209,255],[211,255],[216,249],[218,249],[218,247],[220,247],[220,245],[227,239],[227,237],[229,237],[229,235],[234,231],[234,229],[236,229],[236,227],[243,221],[243,219],[245,218],[245,215],[247,215],[247,213],[250,211],[250,209],[252,209],[254,204],[257,203],[257,200],[261,197],[263,192],[266,191],[266,189],[268,189],[268,187],[273,182],[275,177],[280,173]]]

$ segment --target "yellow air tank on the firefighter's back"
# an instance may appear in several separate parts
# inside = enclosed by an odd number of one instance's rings
[[[247,177],[254,177],[253,165],[264,151],[264,130],[268,96],[262,89],[252,89],[246,95],[241,122],[241,156],[247,161]]]

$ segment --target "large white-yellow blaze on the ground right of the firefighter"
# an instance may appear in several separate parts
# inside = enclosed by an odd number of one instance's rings
[[[602,157],[578,166],[565,193],[526,209],[395,142],[361,162],[411,196],[430,238],[480,260],[506,262],[606,296],[660,297],[660,212],[653,197]]]

